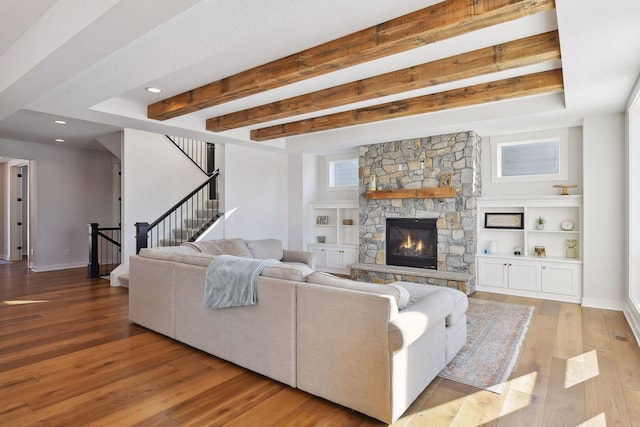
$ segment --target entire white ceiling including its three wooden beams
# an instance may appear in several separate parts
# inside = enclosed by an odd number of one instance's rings
[[[638,16],[638,0],[3,0],[0,140],[104,150],[130,128],[327,154],[581,126],[625,111]]]

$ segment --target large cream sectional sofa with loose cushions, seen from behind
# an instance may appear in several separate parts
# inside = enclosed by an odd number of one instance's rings
[[[207,266],[221,247],[234,247],[238,253],[232,255],[283,261],[257,279],[256,305],[204,308]],[[312,265],[311,254],[284,251],[274,240],[142,250],[131,257],[129,318],[394,422],[462,348],[466,295],[405,282],[355,282],[314,272]]]

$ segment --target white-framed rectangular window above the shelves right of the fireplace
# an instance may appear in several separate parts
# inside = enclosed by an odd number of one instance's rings
[[[529,140],[491,140],[494,182],[558,181],[568,178],[563,136]]]

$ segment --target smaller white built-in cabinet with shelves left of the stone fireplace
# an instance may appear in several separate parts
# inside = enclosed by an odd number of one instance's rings
[[[313,241],[307,249],[316,254],[317,270],[349,274],[349,266],[358,262],[359,215],[358,202],[311,204]]]

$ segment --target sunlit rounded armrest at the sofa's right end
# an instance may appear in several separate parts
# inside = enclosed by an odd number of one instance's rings
[[[409,346],[436,325],[444,324],[453,311],[453,299],[443,291],[425,296],[398,312],[389,324],[389,350],[396,352]]]

